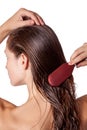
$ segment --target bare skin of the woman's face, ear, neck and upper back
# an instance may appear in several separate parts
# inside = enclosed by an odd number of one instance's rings
[[[3,130],[18,130],[19,128],[21,130],[38,130],[43,126],[43,122],[46,121],[42,130],[49,130],[52,115],[51,106],[36,89],[31,73],[31,63],[28,62],[24,54],[16,58],[14,53],[9,51],[7,47],[5,49],[5,54],[7,56],[6,68],[11,84],[14,86],[26,84],[28,87],[29,99],[25,104],[19,107],[5,101],[4,109],[1,107],[1,117],[3,117],[2,122],[6,124],[6,126],[2,123],[0,128]],[[9,106],[6,107],[6,105]]]

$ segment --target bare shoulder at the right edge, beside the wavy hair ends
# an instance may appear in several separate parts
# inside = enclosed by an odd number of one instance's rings
[[[87,95],[77,99],[78,110],[81,118],[82,130],[87,130]]]

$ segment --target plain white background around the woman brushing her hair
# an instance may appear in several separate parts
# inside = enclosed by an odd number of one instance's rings
[[[86,0],[0,0],[0,25],[19,8],[27,8],[40,14],[45,23],[56,32],[67,61],[73,51],[87,42]],[[28,98],[26,86],[13,87],[5,69],[5,42],[0,45],[0,97],[23,104]],[[87,67],[75,68],[74,79],[77,97],[87,93]]]

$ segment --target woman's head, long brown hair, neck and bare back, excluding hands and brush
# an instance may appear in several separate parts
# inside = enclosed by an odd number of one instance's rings
[[[48,82],[49,74],[66,62],[52,29],[32,25],[14,30],[8,37],[5,53],[11,84],[26,84],[29,91],[29,99],[22,106],[10,104],[1,108],[6,129],[78,130],[73,77],[56,87]]]

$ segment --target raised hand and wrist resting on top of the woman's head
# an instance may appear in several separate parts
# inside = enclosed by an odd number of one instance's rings
[[[0,26],[0,43],[13,29],[33,24],[44,25],[44,21],[33,11],[24,8],[19,9],[11,18]]]

